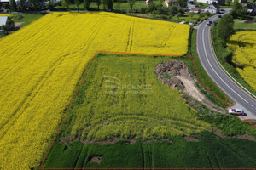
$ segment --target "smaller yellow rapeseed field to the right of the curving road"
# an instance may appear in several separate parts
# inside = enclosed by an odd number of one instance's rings
[[[233,62],[241,77],[256,90],[256,31],[239,31],[230,37],[230,47],[235,49]]]

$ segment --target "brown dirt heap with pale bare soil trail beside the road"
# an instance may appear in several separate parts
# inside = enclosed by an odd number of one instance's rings
[[[196,88],[189,67],[183,61],[164,61],[156,65],[155,73],[157,78],[170,88],[183,88],[183,90],[181,90],[183,95],[187,94],[191,96],[211,111],[225,113],[223,108],[214,105],[204,94],[201,94],[198,88]],[[166,74],[168,74],[169,77],[164,77]]]

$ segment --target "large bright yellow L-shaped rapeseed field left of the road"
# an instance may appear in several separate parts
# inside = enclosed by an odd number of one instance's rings
[[[96,50],[182,55],[188,37],[188,25],[104,12],[47,14],[3,37],[0,169],[38,166]]]

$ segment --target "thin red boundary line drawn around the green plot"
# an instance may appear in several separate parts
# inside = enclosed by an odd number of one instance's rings
[[[55,139],[56,139],[56,137],[57,137],[57,135],[58,135],[58,133],[59,133],[59,131],[60,131],[60,129],[61,129],[61,126],[62,126],[62,124],[63,124],[63,122],[65,121],[65,119],[66,119],[66,116],[67,116],[67,113],[68,113],[68,111],[70,110],[70,108],[71,108],[71,106],[73,105],[73,101],[74,101],[74,99],[76,98],[76,96],[77,96],[77,94],[79,93],[79,89],[81,88],[81,85],[82,85],[82,83],[84,82],[84,78],[86,77],[86,75],[87,75],[87,73],[88,73],[88,71],[89,71],[89,69],[90,69],[90,66],[92,65],[92,62],[93,62],[93,60],[95,59],[95,57],[96,57],[96,54],[99,54],[99,53],[105,53],[105,54],[137,54],[137,55],[151,55],[151,56],[170,56],[170,57],[190,57],[191,58],[191,61],[192,61],[192,64],[194,65],[194,69],[195,69],[195,64],[194,64],[194,60],[193,60],[193,56],[191,55],[191,56],[186,56],[186,55],[171,55],[171,54],[144,54],[144,53],[131,53],[131,52],[115,52],[115,51],[96,51],[96,53],[93,55],[93,58],[90,60],[90,65],[88,66],[88,68],[87,68],[87,70],[85,71],[85,73],[84,73],[84,77],[82,78],[82,81],[80,82],[80,84],[79,84],[79,88],[77,89],[77,91],[76,91],[76,94],[74,94],[74,96],[73,96],[73,99],[72,99],[72,102],[71,102],[71,104],[69,105],[69,107],[68,107],[68,109],[67,109],[67,111],[66,111],[66,114],[65,114],[65,116],[63,117],[63,119],[62,119],[62,121],[61,121],[61,124],[60,124],[60,126],[58,127],[58,130],[57,130],[57,132],[55,133],[55,137],[54,137],[54,139],[52,140],[52,142],[51,142],[51,144],[49,145],[49,149],[47,150],[47,152],[46,152],[46,155],[44,156],[44,160],[42,161],[42,163],[41,163],[41,165],[40,165],[40,167],[38,168],[38,169],[255,169],[255,167],[252,167],[252,168],[219,168],[219,167],[212,167],[212,168],[195,168],[195,167],[155,167],[155,168],[147,168],[147,167],[139,167],[139,168],[137,168],[137,167],[132,167],[132,168],[129,168],[129,167],[124,167],[124,168],[119,168],[119,167],[111,167],[111,168],[104,168],[104,167],[96,167],[96,168],[94,168],[94,167],[81,167],[81,168],[79,168],[79,167],[77,167],[77,168],[74,168],[74,167],[42,167],[43,165],[44,165],[44,161],[45,161],[45,159],[46,159],[46,157],[48,156],[48,154],[49,154],[49,150],[51,149],[51,147],[52,147],[52,145],[54,144],[54,142],[55,142]],[[196,75],[196,78],[197,78],[197,81],[198,81],[198,83],[200,83],[201,84],[201,86],[203,87],[203,88],[206,88],[200,81],[199,81],[199,77],[198,77],[198,75],[197,75],[197,72],[196,72],[196,69],[195,69],[195,75]],[[207,89],[207,91],[209,91],[211,94],[213,94],[212,93],[212,91],[211,90],[209,90],[208,88],[206,88]],[[232,107],[230,106],[230,105],[228,105],[227,103],[225,103],[224,102],[224,100],[223,99],[220,99],[216,94],[213,94],[215,97],[217,97],[219,100],[221,100],[223,103],[224,103],[224,105],[227,105],[228,107],[230,107],[230,109],[232,109]],[[237,113],[237,112],[236,112]],[[241,116],[239,113],[237,113],[239,116]],[[250,125],[252,125],[255,129],[256,129],[256,127],[253,125],[253,123],[251,123],[251,122],[249,122],[244,116],[241,116],[246,122],[248,122]]]

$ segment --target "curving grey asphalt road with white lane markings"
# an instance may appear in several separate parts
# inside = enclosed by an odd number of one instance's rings
[[[218,87],[223,89],[231,99],[236,101],[236,105],[230,107],[243,109],[247,114],[247,116],[244,116],[246,119],[256,119],[256,99],[239,87],[236,82],[224,72],[221,66],[218,65],[218,61],[212,50],[211,26],[207,25],[209,20],[212,20],[212,22],[218,20],[218,14],[198,26],[196,45],[201,64]],[[243,118],[241,117],[241,119]]]

